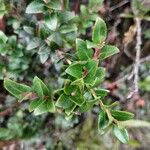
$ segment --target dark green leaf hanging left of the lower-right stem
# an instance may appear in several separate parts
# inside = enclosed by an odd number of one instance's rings
[[[109,126],[109,118],[107,116],[107,113],[101,110],[98,116],[98,129],[99,131],[102,131],[106,129],[108,126]]]

